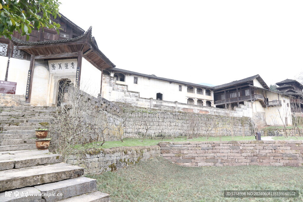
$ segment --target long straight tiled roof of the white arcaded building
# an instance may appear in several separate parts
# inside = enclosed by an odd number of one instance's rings
[[[211,87],[211,86],[205,86],[205,85],[194,84],[194,83],[185,82],[185,81],[178,81],[178,80],[169,79],[169,78],[157,77],[156,75],[147,75],[147,74],[142,74],[142,73],[138,73],[138,72],[135,72],[135,71],[128,71],[128,70],[125,70],[125,69],[112,68],[112,69],[107,69],[107,70],[113,70],[113,71],[118,71],[118,72],[122,72],[122,73],[126,73],[126,74],[132,74],[132,75],[138,75],[138,76],[147,77],[147,78],[154,78],[154,79],[159,79],[159,80],[162,80],[162,81],[169,81],[169,82],[178,83],[178,84],[184,84],[184,85],[190,85],[190,86],[195,86],[195,87],[214,89],[214,87]]]

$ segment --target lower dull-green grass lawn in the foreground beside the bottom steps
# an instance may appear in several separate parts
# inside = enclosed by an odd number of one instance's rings
[[[86,177],[112,201],[302,201],[303,167],[182,167],[162,157]],[[223,190],[299,190],[299,198],[223,198]]]

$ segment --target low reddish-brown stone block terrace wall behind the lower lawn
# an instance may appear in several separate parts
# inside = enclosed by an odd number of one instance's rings
[[[161,155],[181,166],[303,166],[303,141],[159,142]]]

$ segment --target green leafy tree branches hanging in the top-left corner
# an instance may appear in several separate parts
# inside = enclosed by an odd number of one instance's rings
[[[0,0],[0,35],[11,39],[13,31],[21,36],[33,29],[54,28],[59,33],[60,25],[52,21],[59,14],[58,0]]]

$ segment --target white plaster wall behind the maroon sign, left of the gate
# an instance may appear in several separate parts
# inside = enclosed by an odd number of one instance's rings
[[[16,95],[25,95],[30,61],[10,58],[8,81],[17,82]]]

